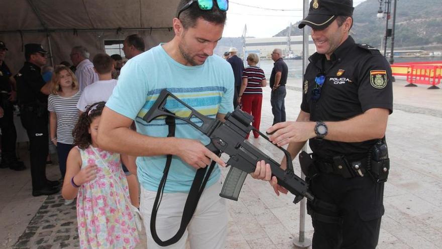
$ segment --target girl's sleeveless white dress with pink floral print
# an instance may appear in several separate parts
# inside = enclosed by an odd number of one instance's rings
[[[107,164],[103,165],[90,147],[76,148],[81,154],[81,168],[88,164],[95,164],[98,168],[96,178],[81,185],[78,190],[80,248],[134,248],[139,237],[130,203],[126,203],[126,199],[129,200],[129,189],[121,167],[120,154],[95,148]],[[124,193],[118,184],[122,186]]]

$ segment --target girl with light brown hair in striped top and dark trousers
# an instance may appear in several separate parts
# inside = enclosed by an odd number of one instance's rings
[[[57,146],[62,179],[66,174],[67,155],[74,143],[72,130],[78,120],[76,105],[80,96],[81,91],[78,90],[78,81],[74,73],[66,66],[58,66],[52,75],[48,111],[49,134],[51,141]]]

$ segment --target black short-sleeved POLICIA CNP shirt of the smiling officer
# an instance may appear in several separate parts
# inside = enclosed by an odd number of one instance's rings
[[[393,111],[391,68],[379,50],[356,44],[352,37],[339,46],[327,61],[324,54],[309,58],[303,82],[301,110],[310,114],[311,121],[342,121],[371,108]],[[315,77],[326,75],[320,97],[312,100]],[[337,142],[310,139],[310,148],[324,161],[337,155],[349,160],[362,159],[376,140]]]

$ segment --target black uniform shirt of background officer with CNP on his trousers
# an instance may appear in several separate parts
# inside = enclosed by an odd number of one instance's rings
[[[17,81],[17,99],[21,105],[33,106],[37,101],[41,104],[48,103],[48,96],[40,92],[46,82],[43,80],[39,66],[31,62],[25,62],[15,78]]]

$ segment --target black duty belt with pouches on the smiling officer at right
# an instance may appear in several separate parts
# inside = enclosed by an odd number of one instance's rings
[[[334,162],[325,162],[313,156],[316,170],[325,174],[336,174],[344,178],[363,177],[367,173],[367,158],[348,161],[344,155],[333,157]]]

